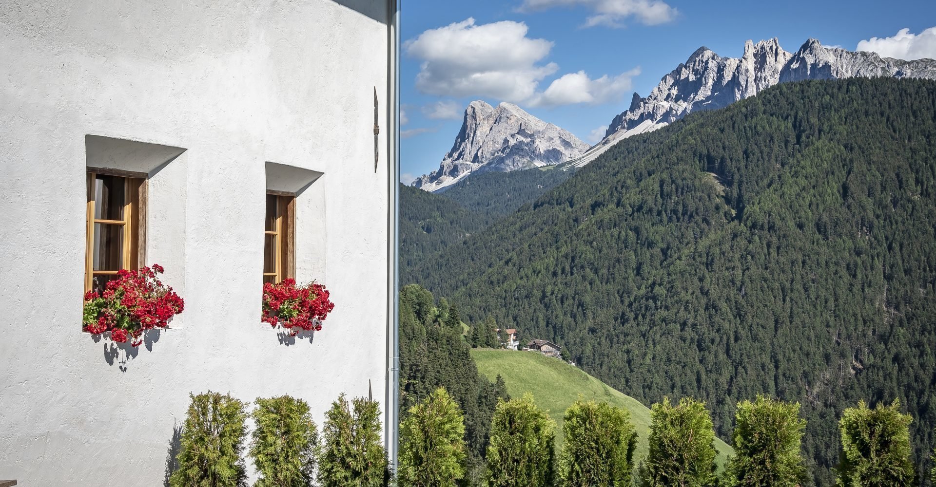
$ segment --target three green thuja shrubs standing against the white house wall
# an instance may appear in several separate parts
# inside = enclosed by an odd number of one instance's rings
[[[229,394],[191,397],[171,487],[246,487],[241,452],[248,417],[255,422],[248,451],[257,472],[255,487],[311,486],[316,468],[323,487],[388,483],[380,407],[373,400],[339,396],[326,413],[319,443],[309,405],[301,399],[257,398],[248,414],[249,404]]]

